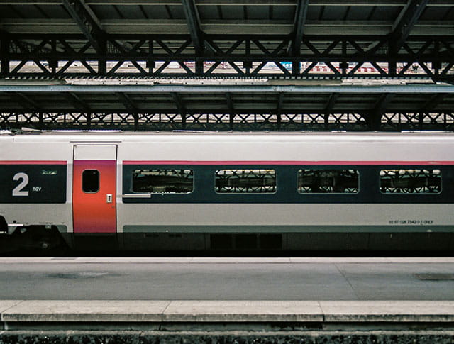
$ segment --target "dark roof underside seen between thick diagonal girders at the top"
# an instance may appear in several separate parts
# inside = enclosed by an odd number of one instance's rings
[[[1,0],[0,26],[13,34],[80,34],[66,0]],[[454,3],[420,1],[424,6],[411,35],[450,35]],[[423,3],[426,2],[426,6]],[[299,4],[306,3],[306,35],[388,35],[407,0],[196,0],[206,35],[289,35]],[[186,0],[85,0],[101,28],[114,35],[189,35]]]

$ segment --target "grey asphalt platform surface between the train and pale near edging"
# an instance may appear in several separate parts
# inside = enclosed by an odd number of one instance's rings
[[[454,300],[453,258],[0,258],[4,300]]]

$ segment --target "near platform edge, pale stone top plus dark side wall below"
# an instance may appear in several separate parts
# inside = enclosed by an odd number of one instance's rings
[[[1,343],[453,343],[454,301],[2,300]]]

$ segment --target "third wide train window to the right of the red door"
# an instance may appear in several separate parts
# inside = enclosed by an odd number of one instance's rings
[[[299,170],[300,194],[356,194],[359,187],[357,170]]]

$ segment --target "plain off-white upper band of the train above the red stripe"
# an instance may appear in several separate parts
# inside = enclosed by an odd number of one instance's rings
[[[66,161],[73,145],[118,145],[118,161],[454,161],[451,132],[205,131],[3,133],[0,160]]]

